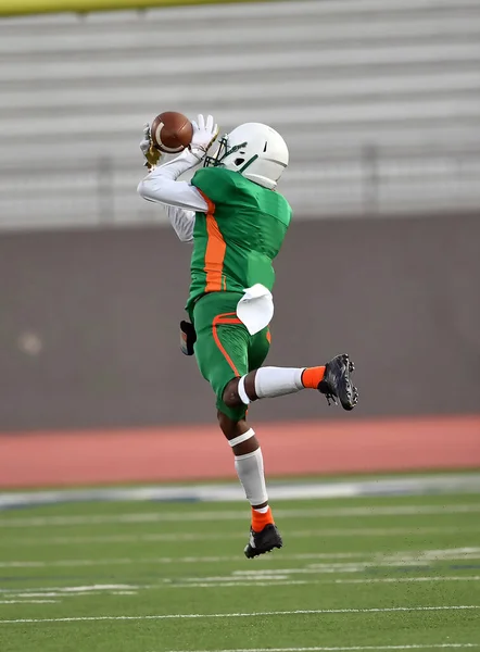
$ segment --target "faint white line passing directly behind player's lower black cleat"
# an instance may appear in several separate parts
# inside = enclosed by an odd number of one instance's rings
[[[462,534],[480,532],[480,526],[462,527]],[[289,539],[312,539],[321,537],[402,537],[408,536],[425,536],[425,535],[457,535],[458,527],[365,527],[365,528],[328,528],[314,530],[292,530],[282,532]],[[225,532],[223,539],[244,539],[245,532]],[[45,537],[31,539],[14,539],[15,548],[18,546],[68,546],[71,543],[140,543],[140,542],[159,542],[159,541],[216,541],[218,535],[204,534],[188,534],[188,532],[172,532],[172,534],[144,534],[144,535],[104,535],[98,537]],[[12,540],[3,538],[0,541],[0,547],[11,547]]]

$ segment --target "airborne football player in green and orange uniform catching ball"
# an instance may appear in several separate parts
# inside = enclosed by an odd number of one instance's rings
[[[268,505],[260,442],[247,421],[250,403],[314,389],[329,403],[339,399],[352,410],[358,393],[346,354],[306,368],[262,366],[274,313],[273,261],[292,216],[290,204],[276,191],[289,163],[283,138],[267,125],[247,123],[223,136],[209,155],[218,134],[213,117],[205,122],[199,115],[192,125],[189,148],[163,164],[146,125],[140,148],[149,173],[138,192],[165,204],[179,239],[193,244],[189,322],[180,325],[184,352],[194,353],[215,392],[219,427],[252,509],[244,553],[254,557],[281,548],[282,540]],[[202,163],[191,181],[177,180]]]

